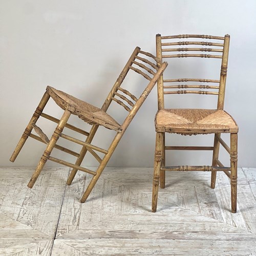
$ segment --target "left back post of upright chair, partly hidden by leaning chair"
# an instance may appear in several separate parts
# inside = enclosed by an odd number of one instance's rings
[[[156,35],[156,54],[162,60],[162,38],[160,34]],[[159,67],[160,64],[158,63]],[[158,97],[158,110],[164,109],[164,93],[163,93],[163,74],[157,80],[157,97]]]

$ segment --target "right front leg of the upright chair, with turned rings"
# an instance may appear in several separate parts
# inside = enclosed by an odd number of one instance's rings
[[[231,212],[237,212],[238,185],[238,134],[230,134],[230,184],[231,184]]]

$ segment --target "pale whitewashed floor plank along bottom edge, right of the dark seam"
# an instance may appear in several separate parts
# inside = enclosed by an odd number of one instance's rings
[[[251,241],[58,239],[52,255],[255,255]]]

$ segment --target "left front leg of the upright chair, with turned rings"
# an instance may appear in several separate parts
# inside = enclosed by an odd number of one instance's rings
[[[152,212],[156,212],[157,210],[157,198],[158,198],[158,189],[159,189],[163,136],[164,136],[164,133],[156,134],[156,150],[155,150],[153,191],[152,191]]]

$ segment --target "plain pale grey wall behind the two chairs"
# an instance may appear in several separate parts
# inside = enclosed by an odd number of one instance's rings
[[[31,138],[14,163],[9,158],[47,84],[101,107],[136,46],[155,54],[157,33],[217,36],[228,33],[231,39],[225,110],[239,124],[239,166],[256,166],[255,13],[255,0],[0,0],[0,165],[37,164],[45,145]],[[169,65],[168,72],[179,73],[179,67]],[[193,71],[204,77],[204,66],[194,65]],[[186,108],[194,102],[197,107],[216,107],[215,96],[190,96],[169,98],[168,104]],[[156,110],[154,88],[124,134],[109,166],[153,166]],[[45,112],[55,117],[62,113],[52,101]],[[90,128],[77,117],[69,122]],[[40,123],[48,135],[56,126],[45,120]],[[93,142],[107,148],[111,141],[107,135],[114,133],[99,131]],[[229,143],[228,135],[223,138]],[[169,135],[167,142],[212,145],[213,136]],[[63,140],[58,143],[70,145]],[[74,144],[69,147],[75,151],[80,148]],[[228,154],[222,150],[220,153],[221,161],[228,164]],[[75,161],[62,152],[53,155]],[[169,152],[167,157],[167,164],[172,165],[211,164],[210,152],[177,151]],[[49,162],[48,165],[55,165]],[[96,162],[89,156],[83,165]]]

